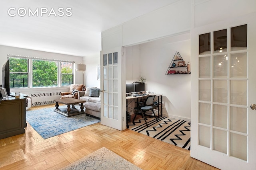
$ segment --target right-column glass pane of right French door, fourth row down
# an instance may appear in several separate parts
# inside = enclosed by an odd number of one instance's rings
[[[247,109],[230,107],[230,129],[247,133]]]

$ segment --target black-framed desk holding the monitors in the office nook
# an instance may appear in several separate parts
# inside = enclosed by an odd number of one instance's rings
[[[130,114],[128,113],[128,108],[134,110],[133,107],[129,107],[129,104],[131,104],[132,102],[134,102],[134,100],[136,100],[136,102],[138,102],[138,100],[140,98],[146,98],[148,96],[156,96],[157,100],[156,102],[158,102],[158,104],[154,104],[153,106],[155,106],[158,109],[158,114],[156,114],[156,116],[158,117],[162,117],[162,94],[149,94],[149,95],[144,95],[144,96],[127,96],[126,97],[126,127],[127,129],[129,128],[128,125],[128,120],[130,120]],[[128,100],[132,99],[129,103]]]

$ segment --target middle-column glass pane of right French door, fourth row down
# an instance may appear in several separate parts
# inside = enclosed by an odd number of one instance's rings
[[[213,105],[213,125],[216,127],[228,128],[228,107]]]

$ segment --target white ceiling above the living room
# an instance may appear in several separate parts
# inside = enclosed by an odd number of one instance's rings
[[[1,0],[0,45],[76,56],[101,50],[101,32],[178,0]],[[8,15],[9,8],[11,10]],[[18,9],[27,14],[18,16]],[[72,16],[48,16],[51,8],[72,8]],[[39,16],[28,16],[28,8]],[[48,13],[41,15],[41,8]],[[65,12],[65,10],[64,10]],[[68,14],[65,12],[65,14]]]

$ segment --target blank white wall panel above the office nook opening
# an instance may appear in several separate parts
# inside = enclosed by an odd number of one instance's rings
[[[191,2],[180,0],[122,24],[122,45],[188,32],[190,24]]]

